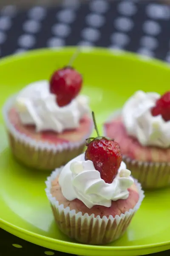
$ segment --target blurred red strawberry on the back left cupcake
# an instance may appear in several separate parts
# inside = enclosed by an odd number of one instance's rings
[[[82,87],[82,76],[72,67],[64,67],[54,72],[50,81],[50,91],[56,94],[57,104],[62,107],[74,99]]]

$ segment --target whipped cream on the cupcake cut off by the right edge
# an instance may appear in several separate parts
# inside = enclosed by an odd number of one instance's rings
[[[158,93],[137,91],[125,103],[122,118],[127,134],[135,137],[143,146],[170,147],[170,121],[152,116],[150,109],[155,106]]]

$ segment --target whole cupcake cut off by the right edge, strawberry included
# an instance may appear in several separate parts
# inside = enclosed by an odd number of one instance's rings
[[[170,92],[137,91],[104,124],[123,161],[144,189],[170,185]]]

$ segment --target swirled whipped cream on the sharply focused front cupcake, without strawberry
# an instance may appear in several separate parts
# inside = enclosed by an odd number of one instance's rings
[[[88,208],[94,205],[111,207],[111,201],[128,198],[127,189],[134,183],[130,174],[122,162],[113,182],[105,183],[93,162],[85,161],[85,154],[81,154],[63,167],[59,175],[59,185],[62,194],[69,201],[77,198]]]

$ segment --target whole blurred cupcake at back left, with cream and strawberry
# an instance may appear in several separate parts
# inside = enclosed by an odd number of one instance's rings
[[[82,76],[73,68],[54,72],[11,96],[3,116],[11,151],[34,169],[54,170],[81,154],[93,130]]]

